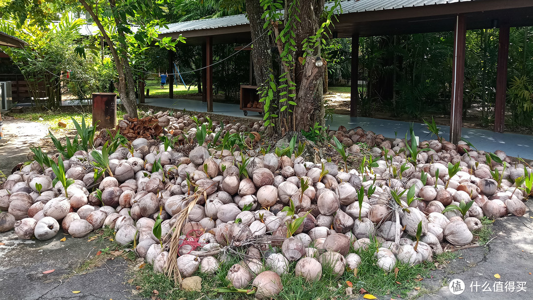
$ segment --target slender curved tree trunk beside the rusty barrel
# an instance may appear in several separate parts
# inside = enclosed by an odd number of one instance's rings
[[[91,15],[93,18],[94,23],[102,33],[103,38],[106,40],[109,50],[111,51],[111,55],[113,56],[113,60],[115,61],[115,66],[118,73],[118,84],[116,84],[116,88],[118,90],[118,95],[120,96],[120,100],[122,101],[122,104],[126,108],[126,112],[130,117],[136,118],[137,115],[137,103],[135,99],[135,82],[133,80],[133,75],[130,69],[130,64],[128,62],[127,56],[124,55],[124,57],[121,59],[119,56],[119,53],[117,52],[114,43],[111,41],[111,38],[107,34],[106,29],[103,27],[102,22],[98,18],[98,15],[93,11],[92,7],[85,2],[85,0],[79,0],[79,2],[83,5],[85,10]],[[111,6],[115,6],[115,1],[110,0],[109,3]],[[118,20],[115,19],[115,22],[118,22]],[[122,31],[119,32],[119,34],[122,33],[122,36],[124,36],[124,33]],[[124,48],[124,49],[127,49]],[[124,54],[124,53],[122,53]],[[131,87],[128,89],[128,85]]]

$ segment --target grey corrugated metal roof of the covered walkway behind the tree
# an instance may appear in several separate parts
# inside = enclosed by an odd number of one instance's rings
[[[456,2],[470,2],[475,0],[346,0],[341,2],[342,14],[366,11],[381,11],[401,9],[403,7],[441,5]],[[326,7],[332,2],[326,3]],[[161,34],[181,33],[184,31],[214,29],[249,24],[246,14],[230,15],[229,17],[201,19],[168,24],[168,29],[163,28]]]

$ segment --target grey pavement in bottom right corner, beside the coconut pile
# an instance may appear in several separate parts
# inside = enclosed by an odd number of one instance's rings
[[[533,299],[533,202],[529,201],[526,205],[526,215],[508,216],[494,222],[491,237],[494,239],[487,247],[459,250],[460,258],[450,262],[443,270],[432,271],[432,278],[422,281],[424,296],[421,299]],[[499,274],[500,278],[496,278],[495,274]],[[456,282],[455,279],[464,282],[462,294],[454,295],[449,289],[449,283]],[[526,290],[519,291],[519,282],[524,282],[521,284]]]

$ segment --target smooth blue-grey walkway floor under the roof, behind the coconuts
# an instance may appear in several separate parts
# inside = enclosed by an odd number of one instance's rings
[[[207,103],[196,100],[185,99],[146,99],[146,103],[151,106],[168,107],[175,109],[186,109],[191,111],[206,111]],[[243,111],[237,104],[213,103],[213,113],[232,117],[244,117]],[[248,118],[262,119],[259,113],[249,112]],[[347,115],[334,115],[333,121],[328,122],[331,128],[345,126],[353,128],[360,126],[365,130],[371,130],[385,137],[405,137],[409,131],[409,123],[403,121],[383,120],[357,117],[352,118]],[[447,139],[450,133],[450,126],[439,126],[443,137]],[[430,139],[430,132],[425,124],[415,123],[415,133],[421,139]],[[495,133],[485,129],[463,128],[462,136],[470,141],[479,150],[491,151],[504,150],[509,156],[533,159],[533,136],[516,133]]]

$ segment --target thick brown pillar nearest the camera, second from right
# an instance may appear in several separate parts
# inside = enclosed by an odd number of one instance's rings
[[[463,84],[465,71],[466,22],[465,16],[457,15],[455,21],[454,56],[451,71],[450,142],[461,140],[463,126]]]

